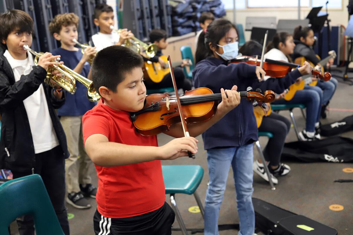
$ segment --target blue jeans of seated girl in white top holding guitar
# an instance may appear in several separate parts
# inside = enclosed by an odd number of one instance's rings
[[[315,86],[305,86],[303,90],[295,92],[293,99],[289,101],[284,99],[277,100],[272,102],[272,104],[304,104],[306,107],[305,130],[314,132],[315,123],[320,120],[321,97],[321,88]]]

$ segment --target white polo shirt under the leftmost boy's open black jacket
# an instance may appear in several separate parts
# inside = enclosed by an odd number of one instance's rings
[[[32,66],[34,66],[34,60],[32,54],[30,54],[30,52],[27,52],[27,54],[25,60],[16,60],[11,56],[8,50],[4,53],[8,63],[10,63],[16,82],[20,80],[21,75],[28,75],[33,70]],[[26,79],[26,77],[22,79]],[[48,151],[58,146],[59,141],[49,115],[43,84],[39,86],[37,91],[23,100],[23,104],[32,132],[35,154]]]

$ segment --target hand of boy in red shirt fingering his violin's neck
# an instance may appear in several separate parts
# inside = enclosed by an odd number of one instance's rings
[[[217,106],[217,113],[224,116],[240,104],[240,94],[237,92],[237,88],[235,85],[231,90],[221,88],[222,102]]]

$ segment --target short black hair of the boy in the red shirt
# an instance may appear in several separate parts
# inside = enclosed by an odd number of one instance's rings
[[[124,81],[126,73],[142,66],[142,56],[127,47],[104,48],[97,53],[92,63],[94,88],[99,92],[99,88],[105,86],[116,92],[116,86]]]

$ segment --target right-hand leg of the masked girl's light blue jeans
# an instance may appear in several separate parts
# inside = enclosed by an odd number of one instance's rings
[[[252,205],[253,182],[253,144],[241,146],[232,160],[235,191],[237,192],[237,208],[240,231],[238,235],[255,233],[255,212]]]

